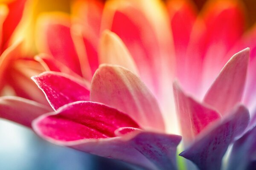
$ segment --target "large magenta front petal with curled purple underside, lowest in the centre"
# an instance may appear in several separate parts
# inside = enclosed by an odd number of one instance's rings
[[[35,132],[55,144],[152,170],[176,169],[180,136],[135,130],[114,137],[115,129],[126,126],[138,127],[128,115],[95,102],[74,102],[33,122]]]

